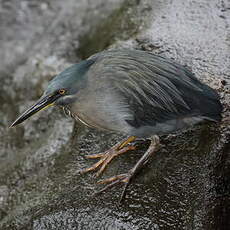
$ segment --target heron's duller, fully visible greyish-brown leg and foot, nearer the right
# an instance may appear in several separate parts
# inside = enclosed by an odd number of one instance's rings
[[[124,183],[125,186],[124,186],[124,189],[123,189],[121,197],[120,197],[120,201],[119,201],[119,203],[120,203],[125,197],[126,190],[127,190],[128,185],[131,182],[131,179],[149,161],[149,159],[153,155],[153,153],[159,149],[159,146],[160,146],[159,137],[153,136],[151,138],[151,143],[149,145],[148,150],[141,157],[141,159],[136,163],[136,165],[131,170],[129,170],[128,173],[120,174],[120,175],[99,181],[98,183],[100,183],[100,184],[107,184],[107,183],[109,183],[109,184],[107,186],[105,186],[103,189],[101,189],[100,191],[96,192],[95,195],[100,194],[100,193],[106,191],[107,189],[117,185],[117,184]]]

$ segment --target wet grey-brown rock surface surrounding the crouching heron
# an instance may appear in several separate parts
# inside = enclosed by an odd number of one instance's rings
[[[227,0],[42,0],[0,2],[0,229],[229,229],[230,4]],[[162,138],[128,189],[101,196],[79,175],[121,139],[52,108],[9,129],[65,67],[97,51],[150,50],[192,68],[224,105],[219,125]],[[112,162],[103,178],[143,154]],[[122,167],[121,167],[122,166]]]

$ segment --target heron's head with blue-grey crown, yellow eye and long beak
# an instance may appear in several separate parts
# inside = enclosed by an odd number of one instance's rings
[[[47,89],[41,98],[19,116],[11,125],[18,125],[34,115],[52,105],[66,106],[77,100],[77,92],[87,84],[85,77],[92,60],[82,61],[72,65],[48,83]]]

